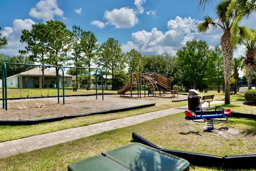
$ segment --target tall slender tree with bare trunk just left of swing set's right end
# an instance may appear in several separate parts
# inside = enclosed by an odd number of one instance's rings
[[[82,61],[85,67],[91,68],[92,64],[96,61],[96,56],[100,45],[98,44],[98,39],[91,31],[82,31],[81,36],[82,37],[80,41],[82,52],[84,53]],[[91,70],[89,69],[87,90],[90,90],[90,82]]]

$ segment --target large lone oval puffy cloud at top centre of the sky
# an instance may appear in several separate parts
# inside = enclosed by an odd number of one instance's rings
[[[112,11],[106,10],[104,18],[108,20],[106,24],[113,25],[116,28],[132,28],[139,22],[134,10],[124,7]]]

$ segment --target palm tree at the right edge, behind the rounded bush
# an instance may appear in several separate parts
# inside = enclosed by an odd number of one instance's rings
[[[252,78],[256,66],[256,30],[248,29],[246,26],[239,27],[239,30],[238,44],[243,44],[246,47],[244,66],[248,89],[252,89]]]

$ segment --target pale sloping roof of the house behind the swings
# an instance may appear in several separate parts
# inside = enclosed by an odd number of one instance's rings
[[[21,72],[20,74],[16,74],[14,76],[42,76],[42,68],[33,68],[31,70]],[[59,72],[59,75],[62,76],[62,72]],[[56,76],[56,72],[54,70],[49,70],[48,68],[44,69],[44,76]],[[10,76],[13,77],[13,76]],[[64,77],[72,77],[69,74],[64,73]]]

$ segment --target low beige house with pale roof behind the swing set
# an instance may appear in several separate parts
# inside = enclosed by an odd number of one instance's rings
[[[34,68],[7,78],[8,88],[42,88],[42,68]],[[40,84],[41,83],[41,84]],[[44,69],[44,87],[51,88],[57,84],[56,72]],[[62,86],[62,72],[59,72],[59,85]],[[64,87],[72,87],[72,76],[64,73]]]

